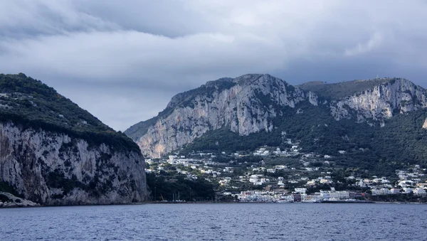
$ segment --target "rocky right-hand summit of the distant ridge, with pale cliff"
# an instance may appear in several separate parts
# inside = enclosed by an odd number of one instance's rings
[[[385,119],[426,107],[426,90],[402,78],[354,80],[329,85],[306,83],[300,88],[316,92],[326,102],[334,119]]]

